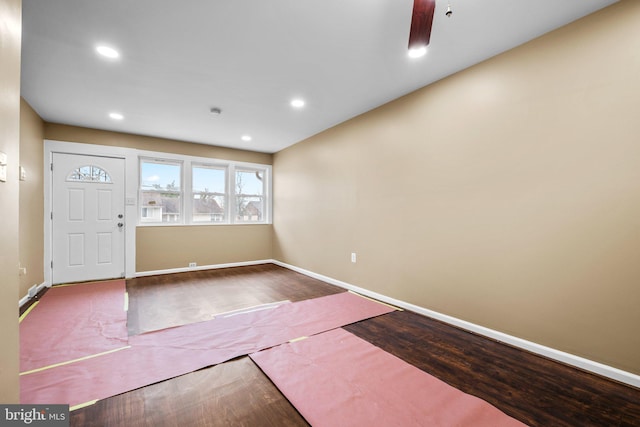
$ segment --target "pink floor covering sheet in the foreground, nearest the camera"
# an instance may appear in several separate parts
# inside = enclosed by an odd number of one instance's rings
[[[314,427],[524,426],[344,329],[250,357]]]

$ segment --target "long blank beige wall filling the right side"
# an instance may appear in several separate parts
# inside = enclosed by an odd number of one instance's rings
[[[638,22],[622,1],[277,153],[274,256],[640,374]]]

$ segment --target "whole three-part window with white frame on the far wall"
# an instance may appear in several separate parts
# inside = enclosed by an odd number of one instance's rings
[[[140,157],[140,225],[270,223],[271,166],[156,154]]]

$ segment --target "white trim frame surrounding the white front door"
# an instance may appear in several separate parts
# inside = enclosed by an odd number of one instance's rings
[[[44,283],[51,286],[52,272],[52,172],[53,153],[84,154],[89,156],[122,158],[125,162],[125,217],[129,218],[125,227],[125,277],[135,277],[136,260],[136,220],[137,218],[137,182],[130,177],[137,176],[137,152],[130,148],[104,145],[80,144],[65,141],[44,141]],[[130,203],[132,202],[133,203]]]

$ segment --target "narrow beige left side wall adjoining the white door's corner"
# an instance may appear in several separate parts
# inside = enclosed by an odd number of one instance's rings
[[[20,181],[20,296],[33,285],[44,283],[44,122],[31,106],[20,100],[20,165],[26,179]]]

